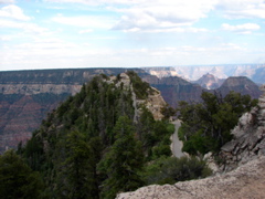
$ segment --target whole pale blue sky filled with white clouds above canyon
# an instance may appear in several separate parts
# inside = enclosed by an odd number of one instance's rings
[[[0,0],[0,71],[265,63],[265,0]]]

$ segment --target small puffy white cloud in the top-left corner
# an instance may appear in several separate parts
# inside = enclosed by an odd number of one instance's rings
[[[22,21],[28,21],[31,18],[25,15],[23,10],[14,4],[10,4],[7,7],[1,8],[0,10],[0,17],[4,18],[12,18],[15,20],[22,20]]]

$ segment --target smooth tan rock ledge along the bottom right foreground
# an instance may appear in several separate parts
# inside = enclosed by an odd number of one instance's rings
[[[117,199],[240,199],[264,198],[265,157],[220,176],[165,186],[148,186],[125,192]]]

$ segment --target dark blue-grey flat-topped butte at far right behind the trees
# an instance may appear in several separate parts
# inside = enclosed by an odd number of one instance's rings
[[[223,96],[230,91],[234,91],[242,95],[251,95],[253,98],[258,98],[262,94],[258,86],[245,76],[229,77],[216,91],[221,92]]]

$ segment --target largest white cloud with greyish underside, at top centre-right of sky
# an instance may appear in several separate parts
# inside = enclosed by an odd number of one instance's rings
[[[192,25],[214,8],[212,0],[155,0],[152,3],[139,3],[124,9],[114,9],[121,12],[121,19],[114,25],[115,30],[153,30],[162,32],[168,29]]]

